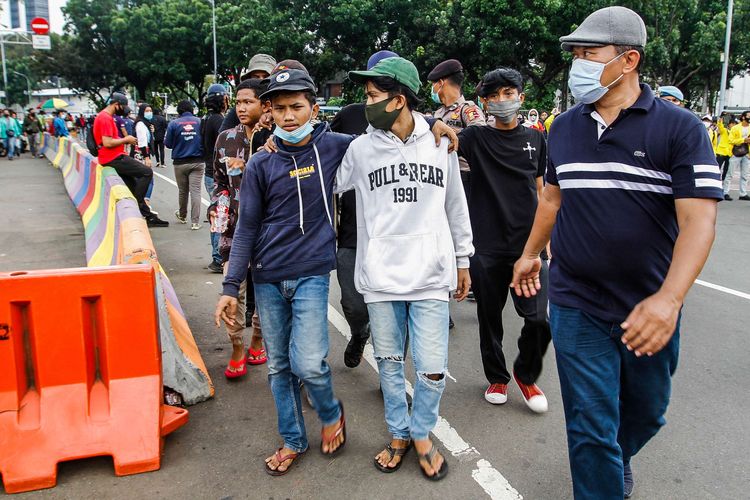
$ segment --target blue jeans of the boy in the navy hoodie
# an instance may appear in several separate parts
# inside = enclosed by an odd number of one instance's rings
[[[307,449],[300,381],[324,426],[341,418],[328,366],[329,276],[255,283],[255,304],[268,354],[268,382],[284,446]]]

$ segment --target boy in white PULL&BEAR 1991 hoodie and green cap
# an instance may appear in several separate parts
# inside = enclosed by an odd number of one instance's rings
[[[337,191],[357,193],[354,281],[370,314],[375,357],[392,441],[375,457],[394,472],[412,444],[423,474],[445,477],[448,464],[429,433],[438,417],[448,361],[448,298],[471,285],[471,225],[456,153],[435,148],[419,104],[416,67],[383,59],[349,77],[365,84],[368,134],[358,137],[339,168]],[[404,347],[409,332],[417,372],[409,415]]]

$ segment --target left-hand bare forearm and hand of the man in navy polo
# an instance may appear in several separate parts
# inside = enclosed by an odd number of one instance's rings
[[[539,273],[542,269],[539,255],[552,236],[552,228],[555,225],[561,201],[560,188],[554,184],[547,184],[539,199],[534,226],[531,228],[529,239],[526,240],[523,255],[513,266],[513,281],[510,286],[519,297],[536,295],[537,290],[542,287],[539,281]]]

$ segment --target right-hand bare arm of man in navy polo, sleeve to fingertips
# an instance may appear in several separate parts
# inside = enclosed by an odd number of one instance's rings
[[[708,259],[716,231],[716,200],[685,198],[675,201],[680,234],[672,264],[658,292],[638,303],[620,325],[622,343],[636,356],[659,352],[674,334],[685,296]]]

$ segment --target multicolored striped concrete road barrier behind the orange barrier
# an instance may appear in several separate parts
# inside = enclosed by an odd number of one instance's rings
[[[81,215],[89,267],[146,263],[154,268],[164,385],[180,393],[187,405],[212,397],[208,370],[130,190],[114,169],[101,167],[71,139],[44,134],[41,151],[62,171]]]

